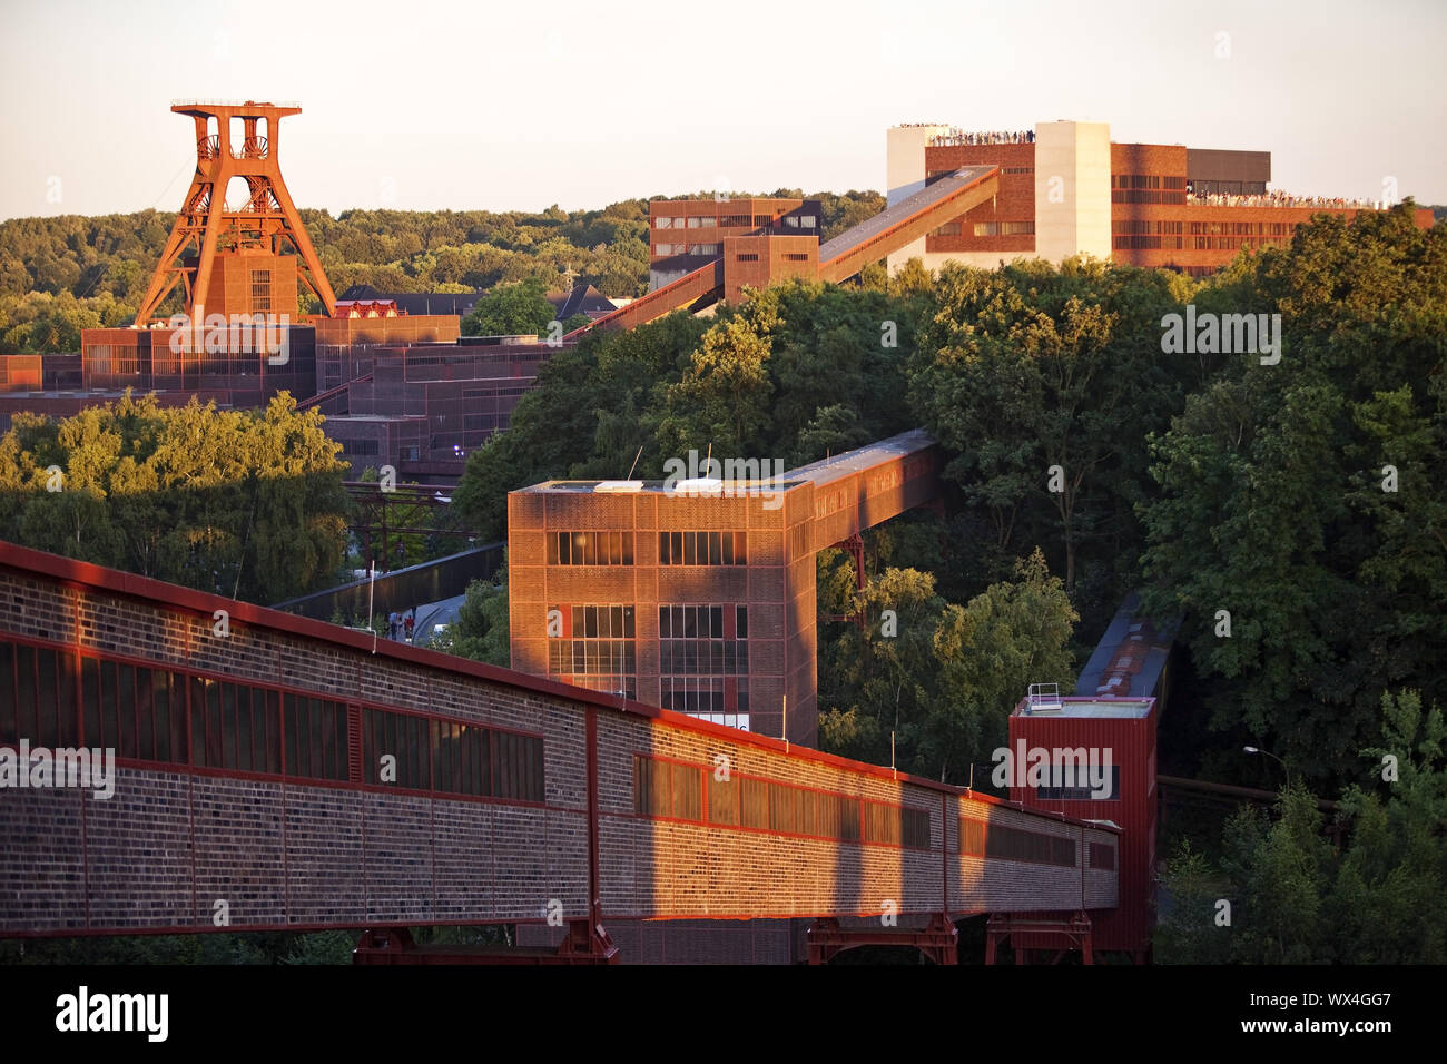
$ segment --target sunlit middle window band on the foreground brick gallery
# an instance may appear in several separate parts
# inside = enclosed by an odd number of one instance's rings
[[[634,812],[841,843],[929,848],[929,812],[702,766],[634,759]]]

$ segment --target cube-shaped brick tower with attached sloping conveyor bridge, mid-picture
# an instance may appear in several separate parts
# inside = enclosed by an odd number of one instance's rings
[[[511,492],[512,667],[765,735],[786,734],[787,698],[787,737],[815,746],[815,554],[929,502],[936,465],[916,430],[748,479],[724,465],[696,489]]]

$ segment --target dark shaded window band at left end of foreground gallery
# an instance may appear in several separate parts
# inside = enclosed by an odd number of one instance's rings
[[[0,743],[292,779],[543,801],[543,740],[168,669],[0,643]],[[360,750],[353,764],[350,754]],[[382,757],[395,761],[383,770]]]

